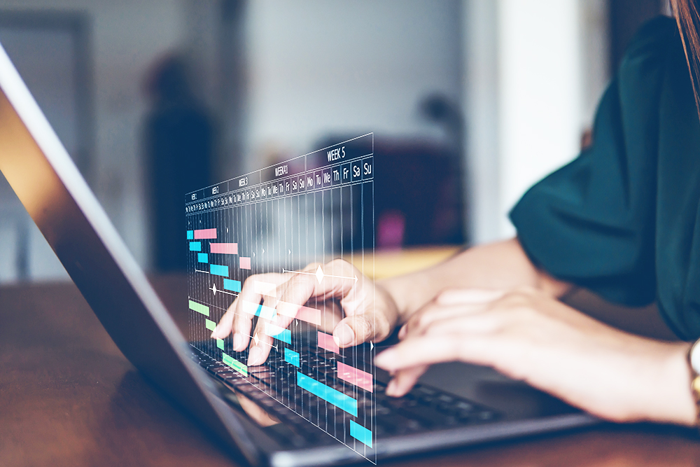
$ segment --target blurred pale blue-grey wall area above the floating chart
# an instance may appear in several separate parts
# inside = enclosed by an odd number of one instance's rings
[[[440,137],[416,111],[461,99],[460,2],[262,0],[248,5],[248,169],[332,132]]]

